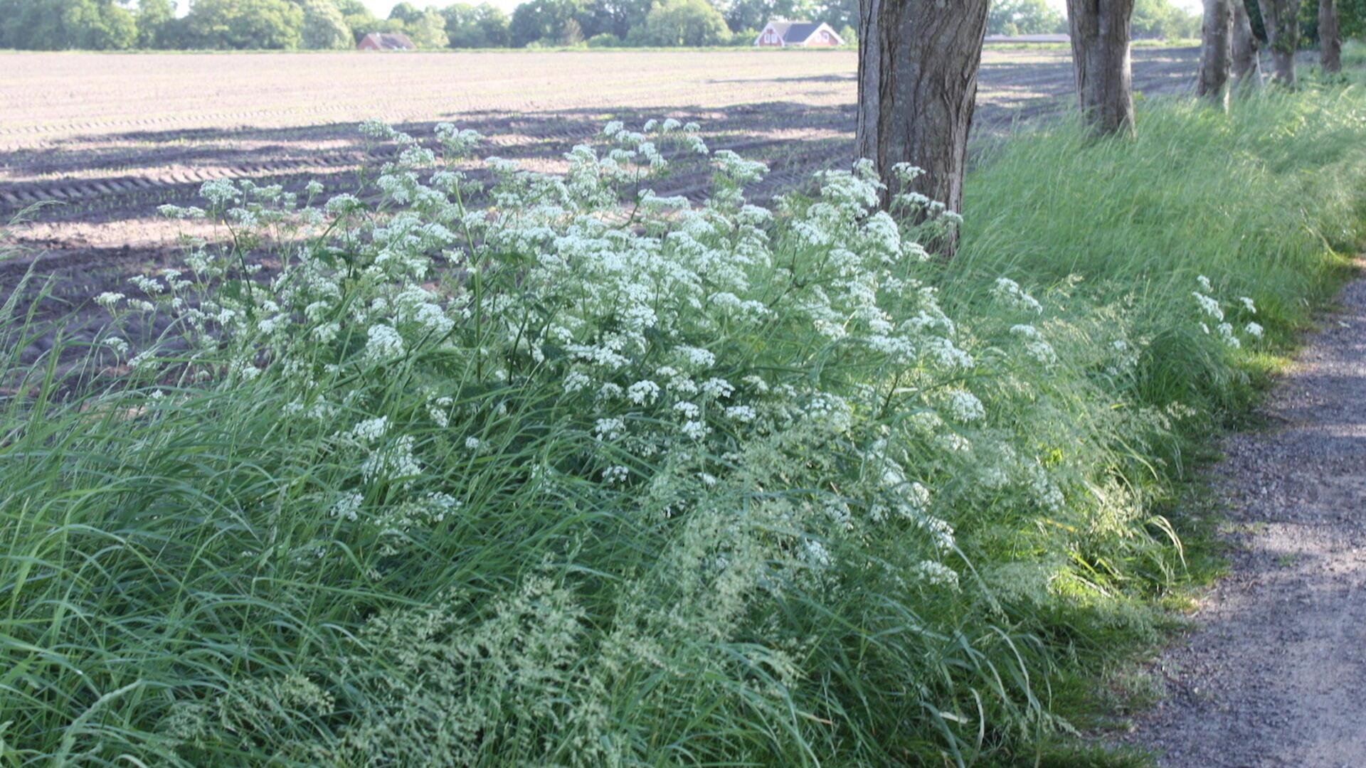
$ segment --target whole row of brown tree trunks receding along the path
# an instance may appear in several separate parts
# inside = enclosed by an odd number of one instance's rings
[[[1134,131],[1130,45],[1139,0],[1067,0],[1082,115],[1097,135]],[[1363,0],[1203,0],[1199,93],[1227,108],[1229,93],[1262,83],[1265,44],[1274,82],[1295,85],[1300,19],[1311,14],[1328,72],[1341,68],[1344,29],[1361,30]],[[967,137],[992,0],[863,0],[859,11],[858,156],[887,194],[918,193],[962,210]],[[1307,10],[1306,10],[1307,8]],[[1347,23],[1344,23],[1347,22]],[[907,179],[908,164],[922,174]],[[956,246],[940,243],[945,254]]]

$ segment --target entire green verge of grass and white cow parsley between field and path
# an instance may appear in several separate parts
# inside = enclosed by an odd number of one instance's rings
[[[953,217],[870,216],[862,169],[764,210],[717,153],[705,208],[613,216],[705,149],[676,124],[492,161],[492,215],[378,126],[361,198],[205,184],[232,242],[101,295],[107,336],[0,316],[5,758],[1038,764],[1183,581],[1191,450],[1333,287],[1363,118],[1020,135],[947,265]]]

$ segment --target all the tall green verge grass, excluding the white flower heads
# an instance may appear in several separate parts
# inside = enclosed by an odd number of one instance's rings
[[[735,379],[885,392],[856,421],[933,486],[956,586],[921,571],[934,555],[918,525],[836,525],[880,470],[800,420],[698,458],[714,473],[699,478],[693,458],[597,440],[591,400],[561,374],[500,380],[437,346],[337,373],[328,387],[361,394],[309,420],[298,372],[202,381],[173,347],[154,379],[102,373],[98,347],[60,339],[23,364],[44,329],[11,301],[0,763],[1130,760],[1056,743],[1097,705],[1094,675],[1158,637],[1154,605],[1187,578],[1165,514],[1187,456],[1341,279],[1363,148],[1356,87],[1228,115],[1150,102],[1131,142],[1067,123],[1012,139],[968,180],[963,251],[919,272],[978,359],[948,380],[888,381],[798,314],[716,327]],[[775,306],[828,268],[792,245],[792,221],[773,225],[758,287]],[[1205,333],[1201,275],[1231,317],[1251,298],[1269,339],[1231,350]],[[1003,276],[1042,313],[1003,302]],[[1020,353],[1023,323],[1056,364]],[[944,387],[989,415],[922,429]],[[425,421],[429,389],[454,398],[444,424]],[[381,525],[336,514],[365,458],[336,433],[381,415],[455,514],[434,519],[400,484],[358,502]],[[604,462],[632,481],[605,482]],[[993,466],[1020,477],[996,486]]]

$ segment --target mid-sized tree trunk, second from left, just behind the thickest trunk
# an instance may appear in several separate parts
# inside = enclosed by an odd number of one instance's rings
[[[1128,34],[1134,0],[1067,0],[1082,113],[1098,134],[1134,130]]]

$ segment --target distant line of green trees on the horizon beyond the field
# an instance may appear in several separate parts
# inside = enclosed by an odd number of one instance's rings
[[[855,42],[858,0],[529,0],[511,16],[489,3],[419,8],[410,1],[377,18],[362,0],[0,0],[0,48],[346,49],[372,31],[406,33],[419,48],[561,45],[749,45],[770,18],[818,19]],[[1315,38],[1317,0],[1303,0],[1303,30]],[[1361,36],[1366,0],[1339,0],[1341,33]],[[1254,30],[1257,1],[1249,3]],[[1201,19],[1171,0],[1135,0],[1137,38],[1199,36]],[[988,34],[1067,31],[1046,0],[993,0]]]

